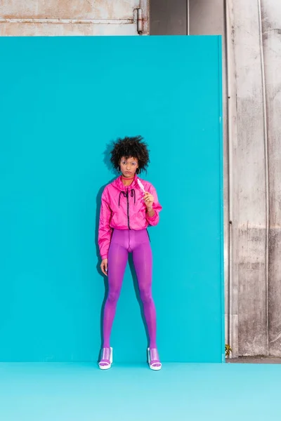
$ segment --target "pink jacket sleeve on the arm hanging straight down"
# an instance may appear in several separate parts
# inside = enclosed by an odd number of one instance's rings
[[[100,206],[100,223],[98,226],[98,247],[100,248],[100,256],[107,259],[108,249],[110,248],[110,239],[112,228],[110,228],[111,210],[108,198],[107,188],[103,190]]]

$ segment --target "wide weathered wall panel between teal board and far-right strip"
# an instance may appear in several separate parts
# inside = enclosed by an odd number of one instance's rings
[[[260,22],[257,2],[235,0],[237,83],[238,352],[268,354],[266,168]]]

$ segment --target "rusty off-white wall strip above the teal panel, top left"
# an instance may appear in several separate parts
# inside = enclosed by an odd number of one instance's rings
[[[1,0],[0,36],[138,35],[136,9],[147,0]]]

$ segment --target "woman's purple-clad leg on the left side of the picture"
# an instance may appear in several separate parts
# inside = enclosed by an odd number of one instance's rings
[[[122,288],[128,251],[121,244],[112,242],[108,253],[108,295],[103,313],[103,347],[110,347],[110,334],[115,318],[117,301]]]

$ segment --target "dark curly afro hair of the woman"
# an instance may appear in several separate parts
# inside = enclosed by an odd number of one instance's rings
[[[122,156],[126,159],[138,159],[138,174],[141,173],[141,171],[147,170],[148,164],[150,163],[148,145],[143,142],[141,136],[117,139],[113,145],[114,147],[111,151],[110,161],[116,170],[119,170],[119,163]]]

